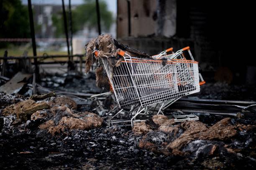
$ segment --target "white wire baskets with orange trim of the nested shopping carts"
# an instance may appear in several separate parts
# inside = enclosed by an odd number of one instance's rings
[[[166,52],[172,51],[170,48],[149,59],[131,57],[118,50],[120,64],[114,67],[108,57],[100,57],[118,106],[140,105],[131,118],[132,126],[135,117],[143,111],[147,112],[147,107],[161,103],[161,112],[170,101],[200,91],[198,62],[193,60],[192,55],[192,60],[187,60],[184,50],[191,54],[187,47],[167,55]],[[95,57],[97,54],[95,51]]]

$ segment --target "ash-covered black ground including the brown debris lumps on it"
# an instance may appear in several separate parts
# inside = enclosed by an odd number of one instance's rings
[[[101,92],[93,75],[47,75],[41,85],[67,92]],[[207,83],[191,97],[250,101],[255,92],[253,86]],[[1,169],[254,169],[256,165],[255,110],[247,110],[244,117],[201,114],[200,121],[181,123],[160,115],[131,129],[110,127],[108,117],[92,113],[90,105],[77,106],[61,95],[41,100],[0,93],[0,101]],[[27,102],[40,109],[24,115],[25,108],[31,110]]]

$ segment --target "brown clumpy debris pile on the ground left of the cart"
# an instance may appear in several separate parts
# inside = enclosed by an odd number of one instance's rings
[[[12,128],[18,124],[22,126],[40,122],[38,127],[52,135],[67,133],[72,129],[88,130],[102,125],[103,119],[95,113],[77,112],[76,109],[77,104],[71,98],[56,96],[54,92],[50,92],[33,95],[30,99],[9,105],[0,113],[5,120],[3,127]],[[7,120],[8,117],[10,120]],[[6,129],[3,130],[6,132]]]

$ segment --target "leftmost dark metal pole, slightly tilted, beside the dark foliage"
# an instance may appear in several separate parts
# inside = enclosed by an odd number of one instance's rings
[[[32,47],[33,47],[33,56],[36,56],[36,38],[35,38],[35,29],[34,29],[34,20],[33,20],[33,11],[32,11],[32,5],[31,0],[28,0],[28,13],[29,13],[29,23],[30,23],[30,34],[32,39]],[[37,63],[37,58],[34,58],[35,63],[35,72],[36,75],[39,74],[39,67]]]

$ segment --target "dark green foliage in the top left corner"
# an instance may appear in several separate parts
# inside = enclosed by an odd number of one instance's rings
[[[0,37],[30,37],[28,8],[22,5],[20,0],[3,0],[2,2],[3,6],[0,10],[4,11],[6,15],[4,19],[2,18]]]

